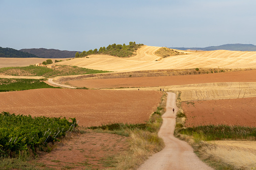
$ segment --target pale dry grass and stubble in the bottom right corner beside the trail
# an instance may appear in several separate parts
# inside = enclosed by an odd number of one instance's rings
[[[198,140],[196,136],[177,136],[192,145],[199,158],[215,169],[256,169],[255,141],[206,142]]]

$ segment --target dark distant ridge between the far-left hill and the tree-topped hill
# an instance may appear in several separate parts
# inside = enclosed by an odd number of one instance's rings
[[[66,50],[61,51],[61,50],[44,49],[44,48],[21,49],[19,51],[34,54],[39,58],[73,58],[76,52],[81,53],[80,51],[66,51]]]

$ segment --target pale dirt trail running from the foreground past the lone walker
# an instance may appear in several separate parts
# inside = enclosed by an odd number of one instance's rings
[[[163,138],[165,147],[153,154],[138,169],[213,169],[203,163],[185,141],[174,137],[175,117],[178,107],[175,104],[175,93],[168,92],[166,112],[162,115],[163,124],[158,135]]]

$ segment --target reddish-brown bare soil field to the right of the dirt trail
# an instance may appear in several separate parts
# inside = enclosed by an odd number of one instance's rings
[[[256,127],[256,97],[183,102],[186,126],[226,124]]]

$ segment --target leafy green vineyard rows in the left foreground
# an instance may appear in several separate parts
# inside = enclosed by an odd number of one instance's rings
[[[15,156],[23,150],[42,149],[47,142],[57,141],[77,126],[76,119],[65,117],[49,118],[31,115],[0,114],[0,156]]]

